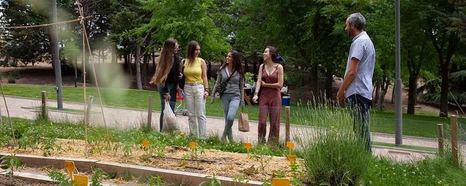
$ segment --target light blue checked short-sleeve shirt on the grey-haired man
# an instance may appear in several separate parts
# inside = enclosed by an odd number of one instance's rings
[[[348,62],[346,63],[346,73],[350,68],[351,59],[359,60],[358,71],[353,82],[350,83],[345,91],[345,96],[348,97],[355,93],[372,100],[372,75],[374,74],[375,65],[375,49],[369,35],[365,31],[359,33],[353,38],[351,43]]]

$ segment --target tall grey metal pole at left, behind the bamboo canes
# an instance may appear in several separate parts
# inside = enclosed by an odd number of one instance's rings
[[[53,22],[57,23],[57,0],[52,0],[52,11],[53,11]],[[57,107],[58,109],[63,109],[63,100],[62,100],[62,66],[60,62],[60,54],[58,51],[58,25],[53,26],[53,37],[54,37],[54,46],[53,50],[55,51],[55,81],[57,83]]]

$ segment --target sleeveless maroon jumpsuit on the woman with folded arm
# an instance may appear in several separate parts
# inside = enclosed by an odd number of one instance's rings
[[[277,66],[278,67],[278,66]],[[278,83],[278,72],[277,67],[272,74],[267,74],[266,70],[262,71],[262,80],[268,84]],[[265,68],[265,66],[263,66]],[[267,132],[267,115],[270,120],[270,131],[268,143],[278,144],[280,135],[280,119],[282,116],[282,99],[280,89],[260,87],[259,97],[259,126],[258,126],[258,137],[259,143],[265,143],[265,135]]]

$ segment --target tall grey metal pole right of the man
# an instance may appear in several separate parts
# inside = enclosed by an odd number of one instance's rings
[[[399,28],[399,0],[395,0],[395,145],[403,145],[403,119],[401,105],[401,67],[400,67],[400,28]]]

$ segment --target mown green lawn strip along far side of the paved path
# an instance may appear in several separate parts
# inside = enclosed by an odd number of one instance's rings
[[[56,100],[55,87],[33,86],[33,85],[12,85],[7,84],[3,86],[3,90],[7,95],[15,95],[22,97],[41,98],[41,91],[46,91],[48,100]],[[158,92],[153,91],[140,91],[133,89],[112,89],[101,88],[102,101],[104,105],[128,107],[137,109],[147,109],[148,95],[153,96],[152,108],[153,110],[160,111],[161,105],[158,101],[160,99]],[[99,104],[97,89],[88,87],[86,88],[86,95],[93,95],[94,104]],[[83,102],[83,88],[82,87],[63,87],[63,100],[69,102]],[[179,104],[179,103],[178,103]],[[282,109],[282,123],[285,123],[285,109]],[[312,108],[311,108],[312,110]],[[245,112],[249,114],[249,119],[257,121],[258,119],[258,105],[246,106]],[[384,112],[371,111],[373,125],[370,126],[371,132],[394,134],[394,112],[387,110]],[[223,111],[220,100],[215,98],[215,103],[210,104],[210,99],[206,102],[206,113],[208,116],[223,117]],[[290,110],[290,123],[300,123],[298,117],[304,114],[312,114],[308,108],[292,104]],[[436,137],[436,124],[446,124],[448,126],[450,119],[440,119],[433,116],[433,114],[422,113],[426,115],[409,115],[403,114],[403,135],[418,136],[418,137]],[[460,125],[466,124],[466,119],[459,119]],[[305,125],[305,124],[303,124]]]

